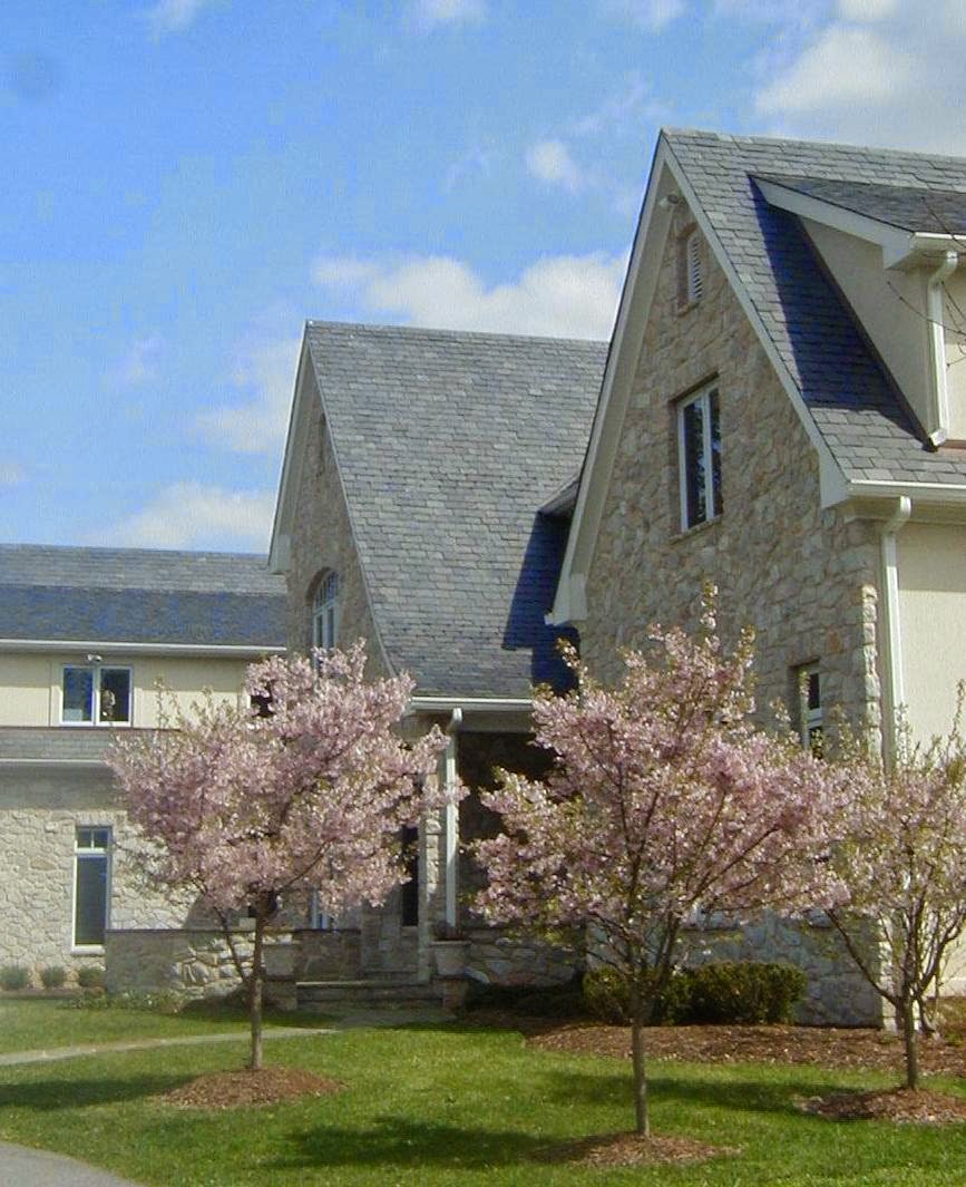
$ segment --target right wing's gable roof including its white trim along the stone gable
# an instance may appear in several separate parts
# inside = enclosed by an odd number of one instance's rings
[[[822,501],[908,493],[910,485],[938,501],[966,496],[966,456],[927,446],[799,220],[769,204],[763,192],[769,183],[808,188],[814,190],[809,197],[851,203],[850,209],[862,207],[866,220],[881,223],[888,216],[892,246],[915,235],[896,229],[896,220],[924,223],[928,230],[929,211],[957,226],[954,216],[966,210],[960,207],[966,198],[962,159],[661,132],[561,566],[557,622],[579,621],[586,612],[586,573],[678,193],[687,201],[816,449]],[[943,234],[948,237],[946,228]]]

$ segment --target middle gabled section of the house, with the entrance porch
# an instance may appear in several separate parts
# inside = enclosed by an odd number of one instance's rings
[[[530,692],[564,675],[545,616],[566,539],[561,488],[605,354],[595,342],[305,326],[269,557],[287,582],[290,648],[362,637],[373,675],[408,672],[407,728],[445,729],[440,777],[458,773],[475,791],[496,766],[545,761],[528,744]],[[458,845],[491,824],[476,794],[458,820],[427,821],[408,886],[330,921],[333,957],[319,952],[318,976],[426,983],[431,945],[457,929],[479,979],[568,976],[566,956],[475,926],[476,871]]]

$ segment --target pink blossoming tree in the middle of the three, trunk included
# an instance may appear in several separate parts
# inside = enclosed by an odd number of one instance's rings
[[[539,692],[544,781],[501,773],[485,802],[504,832],[479,843],[494,922],[585,927],[629,988],[637,1132],[649,1132],[642,1028],[668,983],[682,929],[716,912],[806,906],[825,877],[819,761],[751,723],[752,635],[731,654],[714,633],[655,629],[616,688],[576,654],[567,697]]]

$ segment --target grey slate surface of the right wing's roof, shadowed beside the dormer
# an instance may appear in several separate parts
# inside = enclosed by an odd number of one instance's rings
[[[847,190],[852,201],[864,192],[878,209],[879,191],[895,186],[894,205],[909,217],[909,190],[946,204],[949,195],[966,198],[966,160],[710,132],[663,137],[845,477],[966,483],[966,458],[927,449],[799,221],[770,207],[754,184],[756,176],[868,184],[876,190],[850,184],[837,192]]]

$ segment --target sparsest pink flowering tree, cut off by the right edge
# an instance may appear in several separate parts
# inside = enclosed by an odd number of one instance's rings
[[[844,893],[828,918],[869,983],[892,1005],[905,1047],[905,1086],[919,1086],[919,1030],[932,1030],[938,989],[966,926],[966,745],[957,724],[930,745],[900,729],[885,763],[844,731],[830,773],[830,863]],[[870,948],[870,938],[878,941]]]

